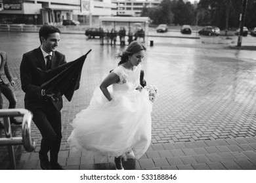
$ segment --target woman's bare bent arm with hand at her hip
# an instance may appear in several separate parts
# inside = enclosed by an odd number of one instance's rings
[[[102,81],[100,84],[100,90],[102,91],[103,95],[111,101],[112,98],[110,96],[110,92],[108,92],[108,86],[116,83],[119,80],[119,76],[116,75],[116,73],[110,73],[106,78]]]

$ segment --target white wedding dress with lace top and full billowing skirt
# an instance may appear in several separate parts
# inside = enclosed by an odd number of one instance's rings
[[[112,101],[96,88],[89,107],[71,124],[70,150],[85,148],[104,156],[122,156],[133,150],[137,159],[146,152],[151,142],[152,103],[145,89],[136,90],[140,68],[138,65],[131,71],[119,65],[112,71],[120,78],[108,87]]]

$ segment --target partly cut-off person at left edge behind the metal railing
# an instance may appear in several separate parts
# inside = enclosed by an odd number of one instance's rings
[[[3,108],[3,98],[1,93],[9,101],[9,108],[16,108],[17,99],[13,87],[15,82],[12,80],[11,73],[9,71],[9,66],[7,63],[7,53],[0,50],[0,109]],[[20,125],[22,122],[16,121],[14,117],[10,117],[11,124]],[[4,125],[0,122],[0,128]]]

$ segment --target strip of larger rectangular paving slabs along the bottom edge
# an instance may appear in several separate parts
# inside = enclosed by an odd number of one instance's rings
[[[0,169],[10,169],[7,156],[0,158]],[[38,152],[19,154],[17,169],[41,169]],[[114,170],[114,158],[87,157],[85,151],[61,150],[59,163],[70,170]],[[217,141],[152,144],[142,158],[123,159],[127,170],[255,170],[256,139],[237,138]]]

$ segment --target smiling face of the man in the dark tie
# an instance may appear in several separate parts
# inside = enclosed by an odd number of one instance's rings
[[[45,39],[45,37],[41,37],[42,48],[45,52],[55,52],[58,47],[58,42],[60,41],[60,33],[52,33]]]

